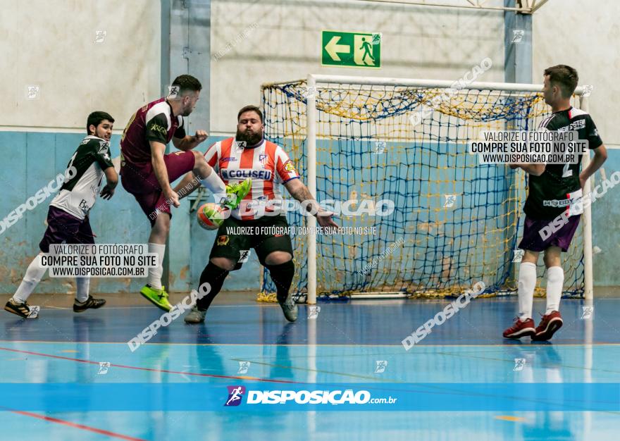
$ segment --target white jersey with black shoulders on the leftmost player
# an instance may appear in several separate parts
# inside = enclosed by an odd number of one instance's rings
[[[71,156],[65,182],[50,205],[84,219],[99,195],[104,170],[108,167],[113,167],[109,142],[95,136],[85,137]]]

